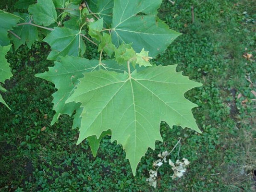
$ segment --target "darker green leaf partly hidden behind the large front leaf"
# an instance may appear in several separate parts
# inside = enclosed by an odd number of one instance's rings
[[[51,124],[54,124],[61,114],[72,115],[76,108],[80,105],[71,102],[65,104],[65,101],[72,95],[75,85],[78,84],[78,78],[83,77],[84,72],[92,72],[99,69],[108,71],[123,72],[125,69],[120,67],[114,60],[103,60],[99,64],[98,60],[87,60],[77,57],[61,57],[60,62],[54,62],[54,67],[49,67],[48,72],[36,74],[36,77],[46,79],[47,81],[55,84],[55,88],[58,89],[53,96],[53,110],[56,111]],[[78,117],[79,121],[79,117]],[[76,123],[78,126],[79,122]],[[79,127],[79,126],[78,126]]]

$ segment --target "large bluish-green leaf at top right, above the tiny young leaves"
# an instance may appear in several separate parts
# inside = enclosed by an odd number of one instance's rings
[[[163,52],[180,35],[156,16],[162,0],[114,0],[112,40],[118,47],[133,43],[136,52],[145,48],[151,57]],[[144,13],[147,15],[138,15]]]

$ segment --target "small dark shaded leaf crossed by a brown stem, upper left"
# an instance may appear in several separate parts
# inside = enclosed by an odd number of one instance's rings
[[[26,13],[18,13],[18,15],[22,17],[25,22],[29,22],[31,19],[31,16]],[[31,45],[38,38],[37,27],[30,24],[24,24],[24,25],[19,25],[17,27],[14,27],[12,32],[14,32],[16,35],[18,35],[21,38],[19,39],[14,35],[10,35],[12,42],[14,44],[15,50],[17,50],[21,45],[24,45],[25,43],[28,48],[31,48]]]

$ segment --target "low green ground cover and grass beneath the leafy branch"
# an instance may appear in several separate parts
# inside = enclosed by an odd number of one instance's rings
[[[10,4],[2,9],[10,11]],[[158,10],[158,16],[183,35],[153,62],[178,63],[178,71],[183,70],[185,75],[204,84],[186,95],[199,106],[194,109],[195,118],[203,133],[171,129],[162,122],[164,143],[157,142],[156,150],[146,153],[135,177],[127,168],[122,146],[110,143],[110,138],[103,138],[94,158],[86,143],[75,145],[77,131],[70,129],[72,120],[68,117],[61,116],[60,121],[50,126],[54,116],[50,105],[54,85],[34,77],[53,66],[46,61],[50,50],[47,44],[34,43],[31,50],[22,46],[9,52],[13,77],[5,82],[8,92],[3,98],[12,111],[1,108],[1,114],[8,114],[0,120],[1,190],[252,191],[253,10],[252,1],[177,1],[174,5],[166,1]],[[90,53],[89,59],[99,57],[95,48],[85,50],[85,54]],[[172,180],[172,169],[163,165],[158,169],[155,190],[146,181],[148,170],[153,168],[158,153],[171,151],[180,138],[181,148],[175,148],[171,160],[187,158],[191,162],[187,172],[183,178]]]

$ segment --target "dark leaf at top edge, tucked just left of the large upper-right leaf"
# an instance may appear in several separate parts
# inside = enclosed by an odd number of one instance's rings
[[[104,18],[104,27],[110,27],[114,0],[88,0],[88,6],[98,18]]]

